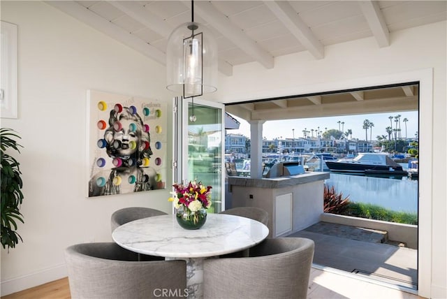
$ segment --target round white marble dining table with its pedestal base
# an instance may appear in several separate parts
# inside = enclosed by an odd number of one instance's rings
[[[162,215],[123,224],[112,239],[140,254],[184,259],[188,298],[203,298],[203,259],[253,247],[268,233],[259,221],[229,214],[208,214],[198,230],[182,228],[175,215]]]

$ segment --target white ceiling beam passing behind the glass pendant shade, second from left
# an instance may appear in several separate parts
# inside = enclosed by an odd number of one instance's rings
[[[129,15],[129,17],[133,17],[133,19],[150,28],[163,38],[168,39],[175,29],[161,17],[145,9],[138,1],[108,1],[108,3],[126,15]],[[219,59],[217,68],[219,68],[219,72],[223,73],[223,75],[233,75],[233,66],[222,59]]]

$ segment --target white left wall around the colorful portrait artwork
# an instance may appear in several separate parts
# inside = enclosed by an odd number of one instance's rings
[[[164,66],[41,1],[1,1],[1,20],[18,26],[19,117],[1,119],[1,127],[22,136],[25,221],[18,230],[24,242],[9,254],[1,249],[3,296],[66,276],[68,245],[111,242],[115,210],[170,211],[170,190],[86,198],[85,132],[87,89],[159,99],[168,109],[172,94]]]

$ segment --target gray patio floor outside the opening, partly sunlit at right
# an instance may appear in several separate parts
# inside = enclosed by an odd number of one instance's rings
[[[318,223],[287,237],[315,242],[314,264],[379,282],[417,289],[418,251],[381,243],[381,232]],[[353,240],[355,239],[355,240]]]

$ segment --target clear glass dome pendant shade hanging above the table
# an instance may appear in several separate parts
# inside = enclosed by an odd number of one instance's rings
[[[166,51],[166,88],[184,99],[217,90],[217,43],[198,22],[174,29]]]

